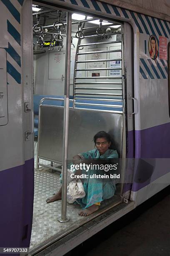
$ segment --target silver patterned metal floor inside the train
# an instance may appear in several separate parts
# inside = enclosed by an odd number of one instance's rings
[[[100,210],[90,216],[82,217],[78,215],[80,211],[79,205],[67,203],[67,216],[70,221],[60,223],[57,218],[61,216],[61,201],[47,204],[45,200],[57,192],[61,186],[60,174],[52,172],[49,168],[41,167],[36,169],[37,159],[37,141],[34,142],[34,158],[35,158],[35,181],[34,181],[34,208],[32,221],[32,234],[30,241],[30,251],[45,245],[52,241],[70,233],[72,230],[80,227],[80,225],[97,217],[110,207],[120,203],[120,185],[117,184],[116,194],[109,200],[101,203]],[[49,161],[40,159],[40,162],[49,164]]]

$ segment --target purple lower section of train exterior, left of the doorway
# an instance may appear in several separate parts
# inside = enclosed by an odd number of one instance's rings
[[[29,247],[34,159],[0,172],[0,247]]]

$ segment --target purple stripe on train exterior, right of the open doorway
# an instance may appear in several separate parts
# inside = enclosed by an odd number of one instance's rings
[[[135,131],[135,159],[132,191],[170,172],[170,123]]]

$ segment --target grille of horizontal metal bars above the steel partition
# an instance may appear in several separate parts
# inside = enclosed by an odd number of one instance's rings
[[[85,24],[82,30],[85,32]],[[111,35],[120,34],[121,40],[102,41],[103,38],[109,38]],[[86,43],[88,38],[97,38],[97,42]],[[119,38],[120,39],[120,38]],[[95,39],[94,39],[95,40]],[[116,45],[115,45],[116,44]],[[107,49],[97,51],[91,50],[92,46],[107,47]],[[115,46],[118,49],[110,49]],[[109,48],[109,49],[108,49]],[[84,51],[82,52],[82,50]],[[96,54],[106,54],[106,58],[97,58]],[[110,54],[117,55],[110,57]],[[92,56],[89,59],[88,56]],[[73,108],[88,108],[113,113],[122,113],[122,84],[123,84],[123,61],[122,61],[122,25],[121,31],[116,33],[104,34],[103,37],[97,34],[85,35],[83,39],[79,38],[75,56],[75,70],[73,80]],[[80,56],[85,56],[80,59]],[[95,58],[94,58],[95,56]],[[110,62],[111,61],[111,62]],[[116,67],[114,67],[114,63]],[[92,67],[88,67],[89,65]],[[95,65],[96,64],[96,65]],[[99,64],[99,65],[97,65]],[[101,64],[101,65],[100,65]],[[105,65],[105,67],[99,67]],[[85,67],[81,67],[84,65]],[[119,67],[118,67],[119,65]],[[80,66],[80,67],[79,67]],[[96,66],[96,67],[95,67]],[[89,72],[93,72],[93,74]],[[105,75],[100,76],[103,72]],[[115,73],[114,73],[115,71]],[[82,72],[85,75],[82,75]],[[91,76],[89,76],[91,74]],[[93,76],[94,75],[94,76]],[[97,76],[99,75],[99,76]]]

